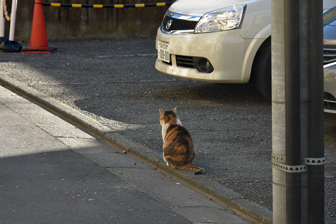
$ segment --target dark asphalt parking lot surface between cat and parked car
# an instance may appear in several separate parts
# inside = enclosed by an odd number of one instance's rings
[[[272,209],[271,105],[253,84],[179,79],[154,68],[155,40],[51,42],[58,52],[0,52],[0,73],[83,112],[161,153],[159,108],[177,107],[206,175]],[[23,47],[28,46],[27,43]],[[326,223],[336,214],[336,127],[325,125]]]

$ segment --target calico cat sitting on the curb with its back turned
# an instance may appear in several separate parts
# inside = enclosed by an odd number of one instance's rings
[[[195,174],[204,174],[204,168],[192,166],[195,157],[194,145],[187,129],[182,126],[176,116],[176,108],[172,111],[160,112],[162,125],[163,158],[167,166],[172,169],[186,169],[195,171]]]

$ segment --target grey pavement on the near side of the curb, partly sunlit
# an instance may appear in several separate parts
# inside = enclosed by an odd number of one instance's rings
[[[247,224],[0,86],[1,224]]]

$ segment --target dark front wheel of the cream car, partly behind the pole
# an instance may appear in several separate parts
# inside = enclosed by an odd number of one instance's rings
[[[272,83],[271,83],[271,43],[264,43],[257,52],[253,62],[253,75],[257,88],[266,101],[272,100]]]

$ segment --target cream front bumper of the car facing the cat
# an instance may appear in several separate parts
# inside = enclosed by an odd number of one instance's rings
[[[216,83],[247,83],[253,58],[245,58],[252,39],[242,38],[240,29],[205,34],[165,34],[158,29],[157,41],[169,43],[170,63],[156,59],[155,68],[176,77]],[[263,41],[263,40],[261,40]],[[204,57],[213,66],[211,73],[179,65],[179,56]]]

